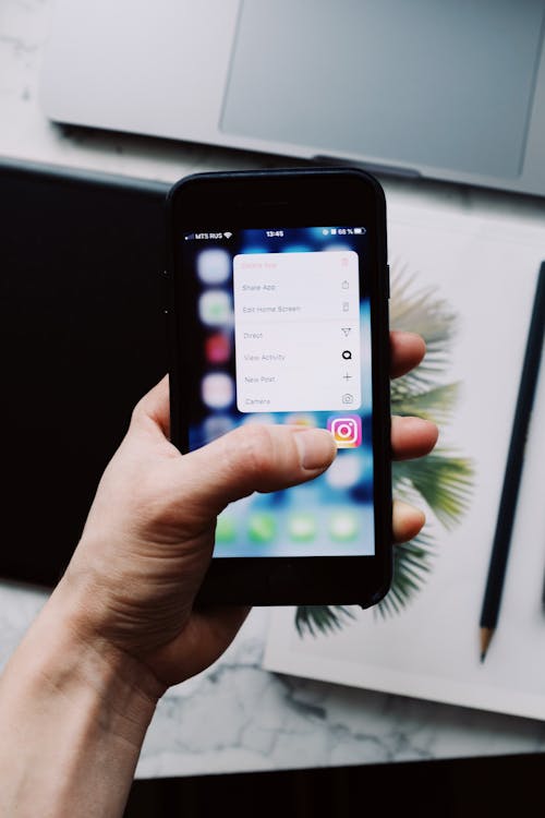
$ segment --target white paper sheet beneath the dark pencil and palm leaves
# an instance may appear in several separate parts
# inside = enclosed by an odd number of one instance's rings
[[[327,636],[300,637],[277,609],[270,671],[545,719],[545,375],[537,385],[497,629],[484,662],[479,622],[545,227],[453,210],[389,208],[389,260],[437,288],[459,316],[448,381],[461,383],[441,446],[472,458],[471,507],[451,531],[428,516],[436,556],[399,614],[352,609]]]

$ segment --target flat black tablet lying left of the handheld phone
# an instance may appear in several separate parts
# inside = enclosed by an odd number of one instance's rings
[[[0,577],[55,585],[167,372],[167,185],[0,164]]]

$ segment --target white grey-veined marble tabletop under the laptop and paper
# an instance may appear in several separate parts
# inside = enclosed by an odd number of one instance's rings
[[[0,3],[0,158],[167,182],[202,170],[294,164],[48,122],[38,89],[52,11],[52,0]],[[439,182],[383,183],[390,201],[440,202],[525,224],[545,219],[545,200]],[[39,589],[0,584],[0,665],[46,599]],[[165,696],[137,778],[545,750],[541,722],[268,673],[261,662],[269,613],[254,610],[221,660]]]

